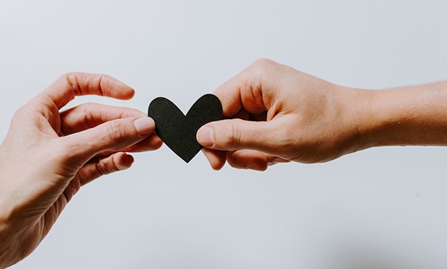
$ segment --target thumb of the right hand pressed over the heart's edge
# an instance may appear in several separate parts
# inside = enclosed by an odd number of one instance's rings
[[[275,120],[253,122],[241,119],[219,120],[202,126],[197,131],[197,142],[209,149],[231,151],[256,149],[274,153],[281,139]]]

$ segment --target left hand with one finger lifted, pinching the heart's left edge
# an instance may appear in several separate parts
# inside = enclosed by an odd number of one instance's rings
[[[82,185],[129,168],[126,151],[161,146],[138,110],[88,103],[60,113],[89,94],[127,100],[134,91],[109,76],[67,74],[13,116],[0,147],[0,268],[40,244]]]

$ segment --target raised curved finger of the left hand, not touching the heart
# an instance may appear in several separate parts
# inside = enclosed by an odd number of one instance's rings
[[[128,100],[133,97],[133,88],[104,74],[68,73],[60,76],[40,96],[50,98],[58,109],[64,107],[76,96],[107,96]]]

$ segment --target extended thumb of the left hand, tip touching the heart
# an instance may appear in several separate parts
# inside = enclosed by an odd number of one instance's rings
[[[89,160],[101,151],[119,150],[136,144],[154,130],[155,122],[152,118],[122,118],[62,138],[72,151],[70,155]]]

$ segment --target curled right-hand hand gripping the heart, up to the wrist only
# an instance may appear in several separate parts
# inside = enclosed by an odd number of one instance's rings
[[[227,119],[202,127],[197,140],[214,169],[329,161],[360,149],[357,115],[369,93],[260,59],[214,92]]]

